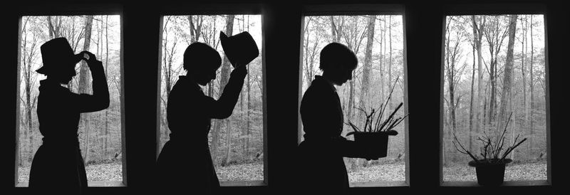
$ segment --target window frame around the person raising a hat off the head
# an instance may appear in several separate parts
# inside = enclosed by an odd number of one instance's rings
[[[219,185],[224,187],[257,187],[268,186],[268,161],[267,161],[267,93],[266,93],[266,58],[265,58],[265,22],[264,7],[261,4],[165,4],[160,7],[160,29],[162,31],[164,16],[187,16],[187,15],[259,15],[261,17],[261,99],[263,112],[263,180],[254,181],[219,181]],[[158,68],[157,68],[157,117],[156,117],[156,159],[160,154],[160,93],[162,90],[162,33],[159,33],[158,48]]]

